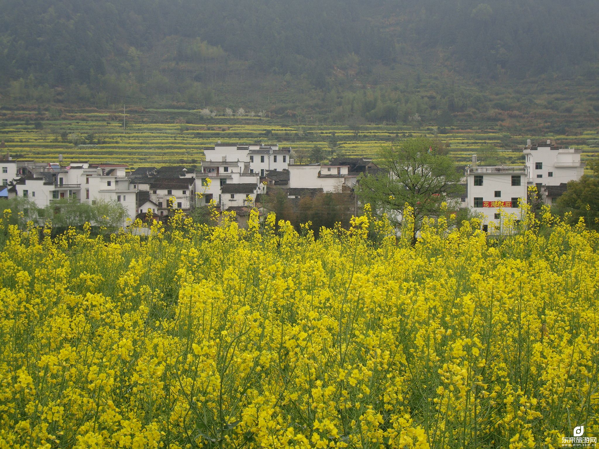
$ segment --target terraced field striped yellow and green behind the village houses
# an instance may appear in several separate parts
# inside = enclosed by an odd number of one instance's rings
[[[202,148],[217,141],[279,142],[291,146],[299,157],[302,150],[318,145],[325,149],[325,157],[376,159],[381,145],[422,135],[446,142],[458,163],[468,162],[471,154],[479,153],[481,145],[497,148],[494,157],[501,163],[519,163],[522,160],[519,150],[528,138],[533,141],[550,138],[560,145],[582,148],[586,160],[599,157],[597,129],[581,130],[578,135],[567,136],[531,136],[489,129],[450,129],[447,134],[437,134],[435,128],[281,125],[258,117],[216,117],[194,125],[132,122],[129,117],[126,129],[123,129],[122,122],[114,120],[115,116],[78,113],[71,117],[63,114],[61,120],[0,120],[0,139],[5,145],[0,151],[10,151],[11,156],[20,159],[56,161],[62,154],[65,162],[122,162],[134,168],[140,165],[197,165],[204,159]]]

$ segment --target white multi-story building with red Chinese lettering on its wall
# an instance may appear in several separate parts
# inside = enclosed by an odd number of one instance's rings
[[[476,166],[466,168],[466,205],[483,219],[483,230],[493,223],[501,227],[501,212],[521,219],[520,204],[527,202],[526,166]]]

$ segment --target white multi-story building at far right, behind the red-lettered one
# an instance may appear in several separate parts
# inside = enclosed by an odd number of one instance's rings
[[[528,139],[523,153],[530,184],[559,186],[568,181],[579,180],[585,172],[586,164],[580,162],[582,150],[559,148],[550,140],[544,144],[532,144]]]

